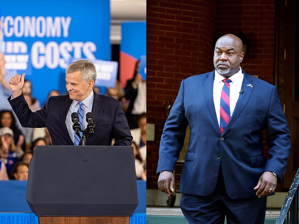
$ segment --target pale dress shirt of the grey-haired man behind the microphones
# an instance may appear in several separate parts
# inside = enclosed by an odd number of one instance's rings
[[[87,128],[86,113],[91,112],[93,99],[94,99],[94,93],[93,93],[93,91],[91,91],[91,93],[82,101],[83,109],[84,109],[83,130],[85,128]],[[73,130],[73,122],[71,119],[71,114],[74,112],[77,113],[78,109],[79,109],[79,101],[73,100],[70,108],[68,109],[68,114],[66,115],[66,118],[65,118],[65,125],[68,128],[68,134],[70,135],[73,142],[74,142],[75,131]]]

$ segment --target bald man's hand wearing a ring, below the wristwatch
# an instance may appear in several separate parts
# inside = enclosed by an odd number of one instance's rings
[[[275,191],[276,185],[277,177],[275,177],[272,172],[265,171],[257,182],[257,186],[254,188],[254,190],[257,190],[256,195],[258,195],[258,197],[263,197],[268,194],[272,194]]]

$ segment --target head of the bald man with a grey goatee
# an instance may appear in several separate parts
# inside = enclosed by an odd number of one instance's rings
[[[244,53],[242,43],[230,36],[218,39],[214,51],[214,67],[222,76],[232,76],[239,71]]]

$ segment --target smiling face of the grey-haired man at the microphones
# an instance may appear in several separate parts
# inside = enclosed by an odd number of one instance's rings
[[[65,77],[66,89],[70,94],[70,99],[81,102],[92,91],[93,81],[85,82],[82,79],[81,71],[75,71],[73,73],[67,73]]]

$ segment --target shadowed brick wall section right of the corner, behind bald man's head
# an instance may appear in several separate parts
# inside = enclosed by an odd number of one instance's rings
[[[216,1],[216,39],[226,33],[243,31],[250,45],[241,66],[273,84],[275,1]]]

